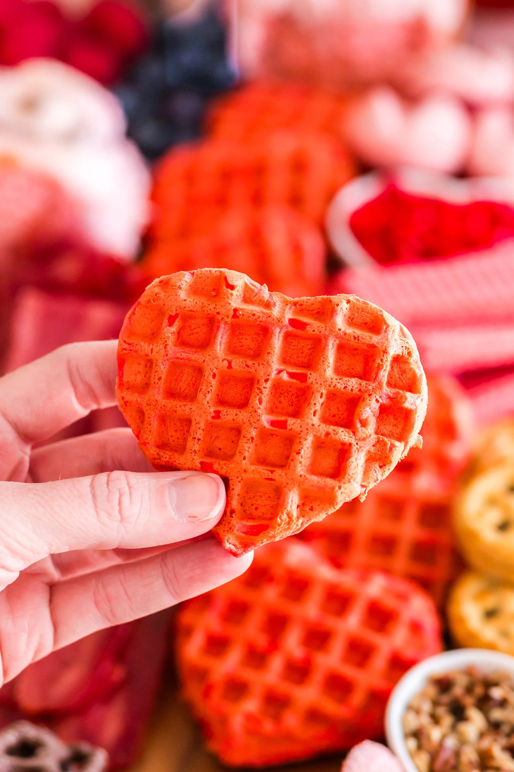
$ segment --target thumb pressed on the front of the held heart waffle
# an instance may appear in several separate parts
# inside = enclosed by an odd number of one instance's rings
[[[0,587],[49,554],[156,547],[206,533],[225,507],[204,472],[106,472],[57,482],[0,482]]]

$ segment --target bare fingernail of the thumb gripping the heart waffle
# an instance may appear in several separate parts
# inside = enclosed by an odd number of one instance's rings
[[[171,480],[168,496],[173,516],[183,523],[219,518],[225,506],[223,481],[204,472]]]

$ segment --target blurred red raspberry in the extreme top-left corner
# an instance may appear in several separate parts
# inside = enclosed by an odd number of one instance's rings
[[[32,56],[59,58],[64,29],[62,16],[52,3],[25,5],[12,18],[2,37],[0,64],[15,65]]]

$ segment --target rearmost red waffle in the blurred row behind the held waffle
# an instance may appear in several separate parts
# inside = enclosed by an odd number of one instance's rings
[[[291,128],[339,136],[347,103],[348,97],[303,84],[249,83],[216,100],[207,127],[211,136],[236,142]]]

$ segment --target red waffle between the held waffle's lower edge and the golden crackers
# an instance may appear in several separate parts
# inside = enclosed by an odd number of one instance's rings
[[[375,568],[421,585],[441,606],[462,570],[452,528],[454,486],[395,469],[364,502],[343,504],[301,538],[337,568]]]

